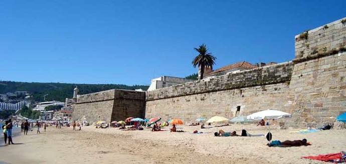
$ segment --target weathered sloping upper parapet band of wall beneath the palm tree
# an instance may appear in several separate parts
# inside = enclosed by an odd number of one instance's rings
[[[148,91],[146,101],[288,82],[292,62],[284,62]]]

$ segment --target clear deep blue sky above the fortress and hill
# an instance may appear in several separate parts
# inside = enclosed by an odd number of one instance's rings
[[[294,57],[294,35],[346,16],[346,0],[2,0],[0,80],[149,84]]]

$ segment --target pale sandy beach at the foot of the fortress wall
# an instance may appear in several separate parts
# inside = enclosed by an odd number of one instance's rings
[[[346,130],[324,130],[306,134],[290,133],[299,129],[272,126],[273,139],[306,138],[312,145],[268,147],[264,136],[215,137],[217,128],[179,126],[186,132],[152,132],[150,129],[124,131],[118,128],[83,126],[36,129],[14,137],[15,145],[0,146],[0,163],[323,163],[301,156],[345,150]],[[203,131],[194,134],[193,130]],[[218,127],[226,131],[247,129],[251,134],[266,134],[267,128],[254,124]]]

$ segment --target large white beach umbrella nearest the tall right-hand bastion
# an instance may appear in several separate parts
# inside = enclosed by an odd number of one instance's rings
[[[259,112],[252,113],[247,116],[248,119],[278,119],[278,118],[290,118],[292,115],[279,110],[267,109]]]

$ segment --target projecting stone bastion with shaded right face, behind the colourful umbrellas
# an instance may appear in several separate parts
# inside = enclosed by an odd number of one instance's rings
[[[127,117],[144,117],[145,92],[111,89],[80,95],[73,106],[73,120],[92,123],[124,120]]]

